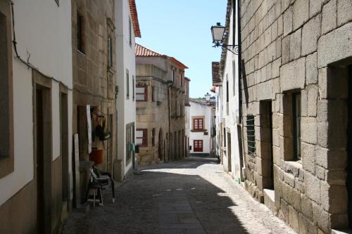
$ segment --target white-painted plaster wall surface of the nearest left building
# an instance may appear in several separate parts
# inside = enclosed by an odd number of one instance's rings
[[[29,58],[29,62],[40,72],[54,77],[72,89],[70,1],[60,1],[58,7],[54,0],[15,0],[14,19],[19,56],[23,60]],[[60,104],[59,85],[53,80],[52,86],[52,145],[55,160],[60,155]],[[18,193],[34,177],[32,98],[32,70],[20,63],[13,52],[14,171],[0,179],[0,188],[6,188],[0,190],[0,205]],[[68,101],[71,136],[71,92],[68,93]],[[71,141],[69,138],[69,152],[72,152]]]

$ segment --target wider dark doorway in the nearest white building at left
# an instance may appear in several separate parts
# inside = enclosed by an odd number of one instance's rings
[[[51,90],[35,84],[35,183],[37,233],[51,233]]]

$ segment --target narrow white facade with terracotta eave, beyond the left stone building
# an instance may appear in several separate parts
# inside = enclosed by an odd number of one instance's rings
[[[122,180],[132,171],[134,165],[134,132],[136,126],[136,56],[134,53],[135,38],[141,37],[137,8],[134,0],[115,2],[116,19],[116,54],[118,112],[118,162],[115,167],[117,178]],[[132,148],[131,148],[132,147]]]

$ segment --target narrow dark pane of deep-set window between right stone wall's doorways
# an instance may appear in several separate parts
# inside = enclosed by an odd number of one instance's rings
[[[301,93],[292,94],[294,124],[294,160],[301,160]]]

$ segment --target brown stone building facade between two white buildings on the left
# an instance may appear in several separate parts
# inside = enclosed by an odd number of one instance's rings
[[[116,155],[115,1],[73,0],[73,133],[79,138],[80,197],[84,202],[89,155],[102,155],[98,166],[113,173]],[[91,122],[91,124],[89,124]],[[96,126],[110,131],[101,141]],[[91,152],[92,151],[92,152]],[[87,169],[82,169],[84,162]],[[77,196],[77,194],[75,194]]]

